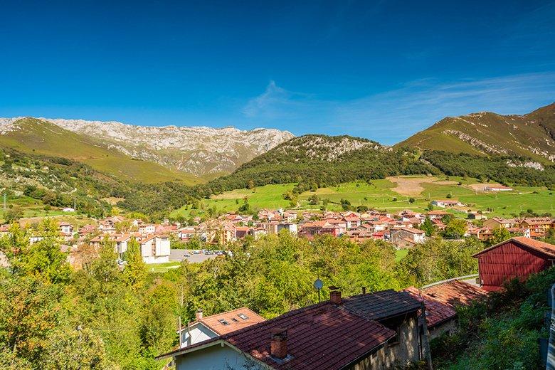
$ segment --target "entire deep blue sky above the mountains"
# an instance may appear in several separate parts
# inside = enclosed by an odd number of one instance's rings
[[[2,13],[0,117],[393,144],[447,115],[555,101],[555,1],[3,1]]]

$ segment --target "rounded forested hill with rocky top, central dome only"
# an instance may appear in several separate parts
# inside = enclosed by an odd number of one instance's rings
[[[413,152],[392,150],[368,139],[305,135],[284,142],[228,176],[196,186],[200,196],[267,184],[297,183],[297,191],[356,179],[438,174]]]

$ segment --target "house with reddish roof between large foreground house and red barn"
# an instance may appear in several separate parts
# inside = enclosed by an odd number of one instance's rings
[[[428,337],[434,339],[448,334],[456,327],[457,306],[470,305],[485,297],[487,292],[468,282],[450,279],[428,285],[422,289],[408,287],[406,292],[424,302]]]

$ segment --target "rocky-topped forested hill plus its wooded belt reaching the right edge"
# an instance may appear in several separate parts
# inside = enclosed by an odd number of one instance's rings
[[[491,179],[502,184],[554,186],[555,166],[529,157],[388,148],[349,136],[305,135],[282,143],[240,166],[228,176],[194,186],[191,196],[267,184],[297,183],[295,192],[333,186],[357,179],[386,176],[446,174]]]

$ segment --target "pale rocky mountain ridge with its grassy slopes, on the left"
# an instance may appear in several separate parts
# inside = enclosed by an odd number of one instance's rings
[[[196,184],[228,174],[293,134],[278,129],[142,127],[33,117],[0,119],[0,146],[75,159],[129,180]]]

